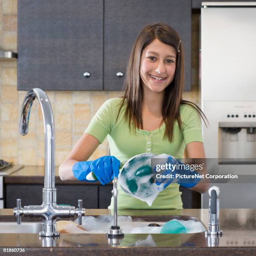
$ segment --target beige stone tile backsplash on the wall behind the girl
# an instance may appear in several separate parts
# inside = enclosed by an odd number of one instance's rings
[[[199,15],[192,16],[192,91],[183,98],[200,105],[198,81]],[[17,0],[0,0],[0,47],[17,52]],[[196,47],[196,48],[195,48]],[[46,91],[54,112],[55,164],[67,157],[91,118],[107,99],[119,91]],[[29,132],[18,134],[18,117],[26,91],[17,90],[17,61],[0,61],[0,159],[14,164],[44,166],[44,124],[41,108],[33,103]],[[107,154],[105,140],[90,159]]]

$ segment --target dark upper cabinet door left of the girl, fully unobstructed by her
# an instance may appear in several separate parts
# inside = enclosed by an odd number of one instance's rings
[[[103,0],[18,1],[18,90],[102,90],[102,52]]]

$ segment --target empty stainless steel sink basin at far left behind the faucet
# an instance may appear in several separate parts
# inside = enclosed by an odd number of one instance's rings
[[[41,222],[0,222],[0,233],[39,233],[43,229]]]

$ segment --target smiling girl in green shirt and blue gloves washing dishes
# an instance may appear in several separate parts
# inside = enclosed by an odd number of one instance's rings
[[[102,184],[118,176],[120,161],[142,153],[205,158],[201,118],[192,102],[182,100],[183,46],[178,33],[162,23],[139,33],[128,62],[125,94],[107,100],[97,111],[84,135],[59,167],[62,180],[84,180],[93,171]],[[201,117],[201,118],[200,118]],[[111,156],[87,161],[108,136]],[[199,182],[192,190],[204,193]],[[118,189],[119,209],[182,209],[179,184],[170,184],[152,206]],[[113,208],[113,198],[109,208]]]

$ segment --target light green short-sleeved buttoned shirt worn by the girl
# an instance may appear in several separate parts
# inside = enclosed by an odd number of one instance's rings
[[[97,111],[88,125],[85,133],[97,138],[100,143],[108,138],[111,156],[127,161],[131,157],[142,153],[168,154],[175,158],[182,158],[186,145],[192,141],[202,141],[202,123],[197,111],[188,105],[180,106],[182,132],[179,131],[177,121],[174,123],[172,143],[163,139],[165,124],[154,131],[136,128],[136,133],[129,130],[124,120],[125,104],[116,117],[122,98],[107,100]],[[125,194],[118,186],[119,209],[182,209],[179,184],[170,184],[159,193],[151,206],[130,195]],[[113,197],[108,208],[112,209]]]

